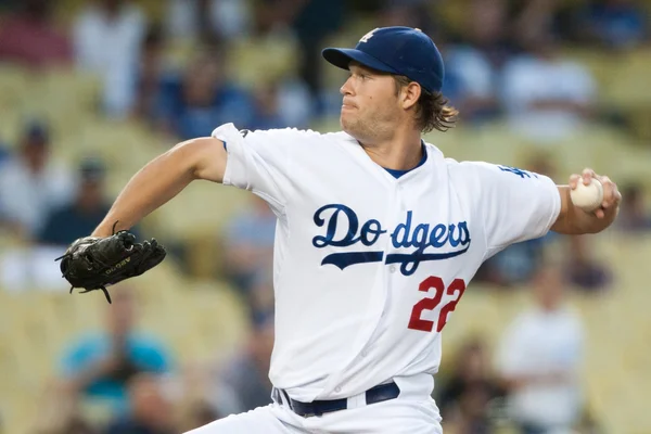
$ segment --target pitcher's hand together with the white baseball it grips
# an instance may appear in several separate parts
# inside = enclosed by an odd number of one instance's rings
[[[584,169],[582,175],[570,177],[570,197],[575,206],[603,218],[609,208],[617,209],[622,194],[609,177]]]

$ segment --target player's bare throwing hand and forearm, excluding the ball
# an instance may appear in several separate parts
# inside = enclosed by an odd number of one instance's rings
[[[587,213],[572,203],[570,192],[576,188],[578,182],[586,182],[595,178],[603,186],[603,201],[601,206],[593,212]],[[567,186],[558,186],[561,195],[561,212],[551,230],[559,233],[579,235],[584,233],[597,233],[608,228],[620,212],[622,194],[617,184],[607,176],[597,175],[592,169],[584,169],[582,175],[572,175]]]

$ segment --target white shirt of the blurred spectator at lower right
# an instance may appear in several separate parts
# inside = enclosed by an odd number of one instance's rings
[[[507,378],[559,373],[562,381],[531,382],[510,396],[512,417],[547,429],[567,429],[582,410],[578,372],[583,362],[584,332],[569,308],[534,308],[507,329],[498,347],[497,368]]]

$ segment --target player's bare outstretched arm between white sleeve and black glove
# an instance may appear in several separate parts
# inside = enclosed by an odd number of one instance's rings
[[[142,167],[119,193],[93,237],[129,229],[197,179],[222,182],[227,152],[224,142],[203,137],[178,143]]]

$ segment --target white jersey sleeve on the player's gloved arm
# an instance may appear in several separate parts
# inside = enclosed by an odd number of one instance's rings
[[[295,149],[318,133],[295,128],[238,130],[225,124],[212,136],[224,142],[228,153],[224,184],[250,190],[282,208],[290,194]]]

